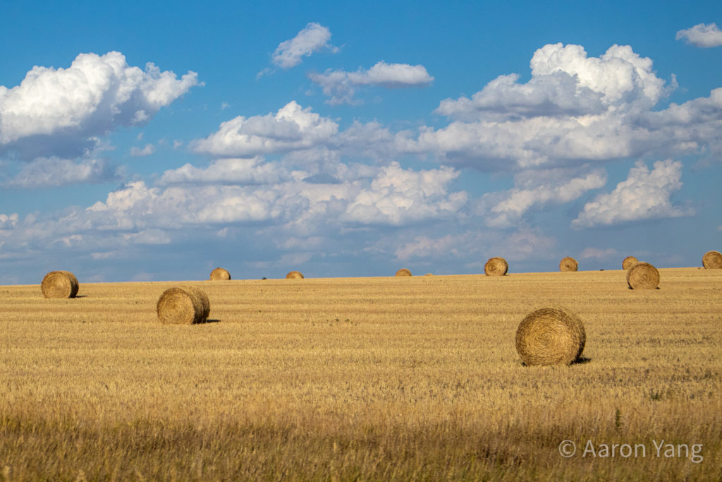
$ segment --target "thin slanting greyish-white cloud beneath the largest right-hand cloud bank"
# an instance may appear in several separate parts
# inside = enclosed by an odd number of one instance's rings
[[[591,189],[606,184],[604,169],[550,169],[525,171],[514,177],[515,187],[509,191],[485,194],[482,210],[487,224],[497,228],[515,225],[532,207],[562,204],[578,199]]]

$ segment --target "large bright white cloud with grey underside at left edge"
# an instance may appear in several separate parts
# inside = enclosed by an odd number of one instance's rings
[[[0,153],[72,158],[118,125],[142,124],[198,84],[122,53],[81,53],[66,69],[35,66],[20,85],[0,86]]]

